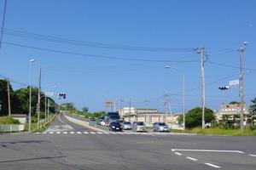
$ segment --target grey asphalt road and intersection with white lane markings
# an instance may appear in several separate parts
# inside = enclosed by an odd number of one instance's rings
[[[47,132],[52,133],[0,135],[0,169],[256,167],[255,137],[99,133],[63,116]]]

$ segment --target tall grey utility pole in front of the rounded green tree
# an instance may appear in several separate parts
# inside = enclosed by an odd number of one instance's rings
[[[201,127],[205,128],[205,107],[206,107],[206,94],[205,94],[205,60],[204,48],[197,48],[197,54],[201,54]]]

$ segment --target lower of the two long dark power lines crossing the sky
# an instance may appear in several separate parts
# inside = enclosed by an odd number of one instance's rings
[[[158,59],[134,59],[134,58],[128,58],[128,57],[115,57],[115,56],[104,56],[104,55],[96,55],[96,54],[80,54],[80,53],[74,53],[70,51],[63,51],[58,49],[50,49],[50,48],[38,48],[28,45],[23,45],[20,43],[13,43],[13,42],[3,42],[4,44],[20,47],[20,48],[31,48],[36,49],[40,51],[47,51],[52,53],[58,53],[58,54],[73,54],[78,56],[84,56],[84,57],[91,57],[91,58],[97,58],[97,59],[115,59],[115,60],[130,60],[130,61],[143,61],[143,62],[171,62],[171,63],[193,63],[198,62],[197,60],[158,60]]]

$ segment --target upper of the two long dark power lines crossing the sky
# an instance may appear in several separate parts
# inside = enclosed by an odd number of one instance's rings
[[[33,40],[45,41],[45,42],[58,42],[66,43],[75,46],[83,46],[90,48],[113,48],[123,50],[135,50],[135,51],[150,51],[150,52],[193,52],[195,48],[156,48],[156,47],[143,47],[143,46],[131,46],[131,45],[120,45],[106,42],[88,42],[81,40],[67,39],[64,37],[52,37],[45,36],[42,34],[35,34],[26,31],[17,31],[14,29],[4,29],[4,34],[14,37],[25,37]]]

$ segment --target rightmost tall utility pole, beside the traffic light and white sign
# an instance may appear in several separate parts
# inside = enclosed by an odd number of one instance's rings
[[[240,77],[239,77],[239,96],[240,96],[240,127],[241,131],[245,130],[244,122],[244,88],[243,88],[243,52],[246,49],[247,42],[244,42],[241,48],[239,48],[240,53]]]

